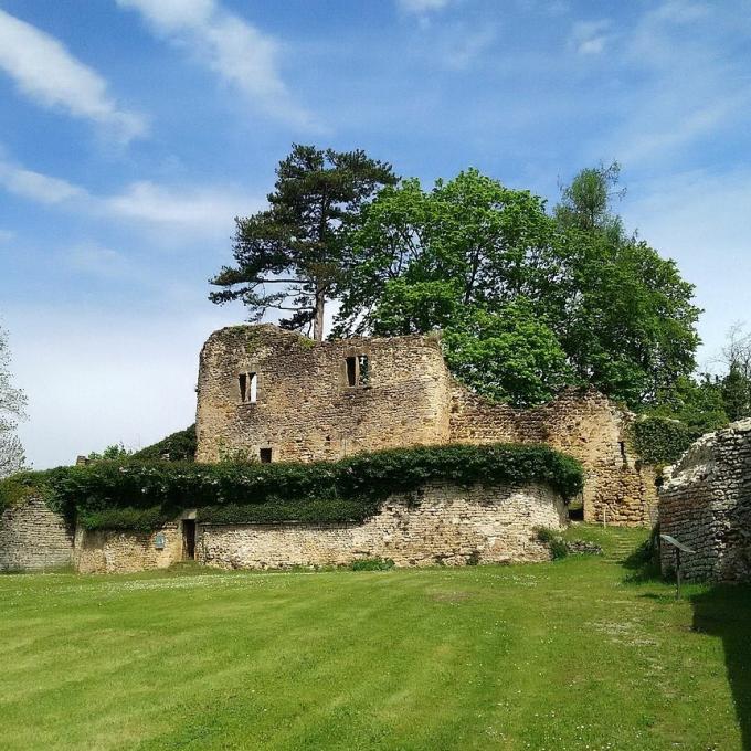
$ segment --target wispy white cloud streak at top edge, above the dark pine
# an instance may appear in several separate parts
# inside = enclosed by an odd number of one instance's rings
[[[117,0],[140,12],[149,28],[190,53],[264,112],[310,127],[279,72],[282,45],[215,0]]]

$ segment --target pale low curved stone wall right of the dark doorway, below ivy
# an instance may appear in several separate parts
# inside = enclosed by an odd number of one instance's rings
[[[543,486],[432,484],[416,497],[392,496],[361,525],[203,526],[197,558],[225,569],[339,565],[361,558],[396,565],[543,561],[550,552],[535,528],[564,525],[562,499]]]

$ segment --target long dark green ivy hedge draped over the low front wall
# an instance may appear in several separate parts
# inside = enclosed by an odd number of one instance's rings
[[[583,473],[541,445],[420,446],[311,464],[98,462],[23,473],[0,483],[0,499],[11,487],[33,489],[88,529],[154,529],[187,508],[216,523],[345,522],[362,521],[389,495],[430,482],[544,483],[569,498],[581,490]]]

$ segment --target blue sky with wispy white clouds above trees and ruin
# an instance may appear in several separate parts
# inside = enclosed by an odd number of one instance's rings
[[[38,467],[193,419],[233,216],[293,141],[620,204],[706,308],[751,318],[745,0],[0,0],[0,319]]]

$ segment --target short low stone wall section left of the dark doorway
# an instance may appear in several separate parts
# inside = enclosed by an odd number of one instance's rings
[[[158,533],[165,537],[165,548],[155,544]],[[166,569],[181,561],[182,529],[179,521],[152,532],[110,529],[75,533],[73,563],[80,573],[131,573],[145,569]]]

